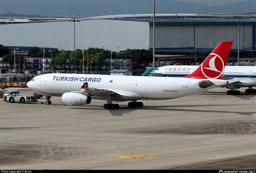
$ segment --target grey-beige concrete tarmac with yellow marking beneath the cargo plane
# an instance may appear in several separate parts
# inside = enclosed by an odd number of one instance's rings
[[[225,91],[116,110],[0,100],[0,169],[256,169],[255,94]]]

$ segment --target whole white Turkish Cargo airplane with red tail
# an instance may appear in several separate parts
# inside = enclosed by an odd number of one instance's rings
[[[223,86],[221,80],[233,41],[221,41],[204,62],[184,78],[158,78],[99,74],[49,73],[38,75],[28,87],[45,95],[50,105],[51,96],[62,96],[65,105],[83,105],[91,99],[106,100],[105,109],[118,109],[112,101],[130,101],[129,107],[143,107],[137,100],[165,100],[180,98]]]

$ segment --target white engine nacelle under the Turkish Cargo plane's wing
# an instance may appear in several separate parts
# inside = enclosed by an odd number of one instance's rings
[[[91,101],[92,99],[88,95],[83,95],[79,93],[62,94],[62,102],[65,105],[84,105],[84,104],[90,104]]]

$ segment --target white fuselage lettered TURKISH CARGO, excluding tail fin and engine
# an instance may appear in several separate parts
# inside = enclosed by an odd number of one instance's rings
[[[179,98],[210,89],[211,87],[199,87],[199,82],[202,80],[191,78],[51,73],[42,74],[33,78],[30,81],[29,87],[42,95],[61,96],[63,93],[81,90],[81,86],[84,82],[87,82],[89,88],[110,89],[116,93],[121,93],[120,95],[113,96],[112,100],[163,100]],[[126,93],[124,91],[128,92],[127,96],[125,96]],[[102,95],[98,96],[96,94],[91,97],[92,99],[105,100]]]

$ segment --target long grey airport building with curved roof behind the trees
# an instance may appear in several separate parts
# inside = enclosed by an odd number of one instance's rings
[[[59,50],[98,47],[119,52],[153,47],[152,14],[0,20],[0,31],[0,44],[11,50],[35,46]],[[221,40],[234,41],[232,62],[237,57],[238,43],[240,58],[256,57],[256,13],[156,15],[156,53],[167,55],[160,59],[172,59],[171,64],[176,60],[170,55],[205,58]],[[183,64],[190,63],[187,60]]]

